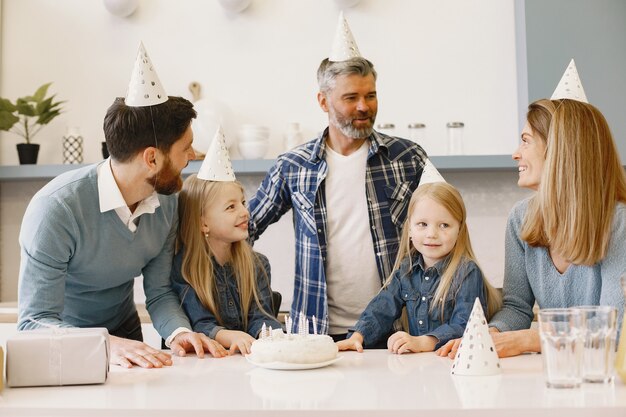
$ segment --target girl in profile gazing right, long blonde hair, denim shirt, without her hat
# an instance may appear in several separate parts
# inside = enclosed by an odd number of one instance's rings
[[[247,242],[249,213],[236,181],[205,181],[191,175],[178,197],[179,230],[172,286],[193,330],[217,340],[230,353],[250,353],[271,315],[267,258]]]

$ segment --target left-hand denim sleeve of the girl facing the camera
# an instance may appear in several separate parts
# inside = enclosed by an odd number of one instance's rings
[[[391,283],[380,290],[359,317],[354,331],[363,335],[365,347],[381,342],[391,331],[393,322],[402,314],[404,300],[401,290],[400,271],[396,271]]]

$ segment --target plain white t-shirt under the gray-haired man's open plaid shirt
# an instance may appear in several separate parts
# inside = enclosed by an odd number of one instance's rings
[[[368,141],[348,156],[326,147],[326,283],[330,334],[343,334],[381,287],[365,195]]]

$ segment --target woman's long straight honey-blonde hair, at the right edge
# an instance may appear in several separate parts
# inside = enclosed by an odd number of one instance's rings
[[[615,205],[626,201],[609,126],[591,104],[567,99],[532,103],[528,123],[547,150],[521,238],[573,264],[593,265],[606,256]]]

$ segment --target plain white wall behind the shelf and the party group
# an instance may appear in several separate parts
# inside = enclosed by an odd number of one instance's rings
[[[170,95],[191,98],[198,81],[221,109],[227,136],[243,123],[272,129],[268,157],[289,122],[305,136],[326,125],[315,72],[328,56],[338,8],[332,0],[254,0],[239,15],[219,2],[140,0],[130,18],[101,0],[2,1],[0,95],[15,99],[52,81],[65,112],[42,130],[39,163],[61,163],[61,136],[79,126],[85,162],[101,159],[102,119],[123,96],[142,40]],[[445,149],[445,124],[463,121],[470,154],[510,153],[518,137],[513,0],[362,0],[345,11],[361,53],[379,72],[380,123],[407,135],[427,124]],[[0,163],[17,164],[12,134]]]

